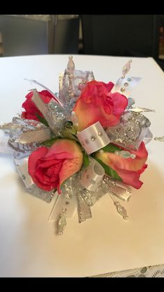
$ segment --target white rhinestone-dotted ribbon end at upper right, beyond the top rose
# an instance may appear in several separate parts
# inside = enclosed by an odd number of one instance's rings
[[[121,77],[117,80],[115,86],[113,86],[111,93],[118,92],[128,98],[132,89],[138,84],[138,82],[140,82],[140,79],[140,77]]]

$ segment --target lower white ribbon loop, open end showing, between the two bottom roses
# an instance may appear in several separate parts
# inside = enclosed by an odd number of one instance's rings
[[[103,179],[104,174],[104,168],[101,167],[99,162],[90,158],[89,166],[81,173],[81,182],[85,189],[90,191],[97,190],[97,187]]]

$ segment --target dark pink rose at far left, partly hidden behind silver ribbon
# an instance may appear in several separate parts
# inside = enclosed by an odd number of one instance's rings
[[[40,98],[42,98],[42,101],[44,103],[49,103],[51,98],[53,98],[53,95],[49,93],[47,90],[43,90],[38,92],[40,94]],[[32,102],[31,98],[33,97],[33,91],[28,93],[26,95],[26,101],[22,104],[22,107],[24,107],[26,112],[22,112],[22,118],[26,118],[27,120],[35,120],[39,121],[36,114],[39,114],[43,117],[42,113],[39,111],[39,109],[35,106],[35,104]]]

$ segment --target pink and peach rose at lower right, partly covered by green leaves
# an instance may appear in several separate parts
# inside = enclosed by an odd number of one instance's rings
[[[136,158],[123,158],[120,155],[109,152],[97,153],[96,157],[114,169],[122,178],[123,183],[139,189],[142,186],[142,181],[139,180],[140,174],[147,168],[147,164],[145,164],[148,155],[147,149],[144,142],[142,142],[138,151],[129,152],[136,154]]]

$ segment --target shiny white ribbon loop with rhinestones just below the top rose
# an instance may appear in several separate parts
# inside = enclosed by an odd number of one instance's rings
[[[99,122],[79,132],[77,137],[88,154],[98,151],[110,143],[108,135]]]

